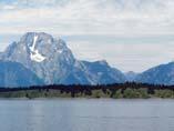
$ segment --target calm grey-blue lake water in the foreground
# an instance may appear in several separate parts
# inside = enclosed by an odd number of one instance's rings
[[[174,131],[174,100],[0,100],[0,131]]]

